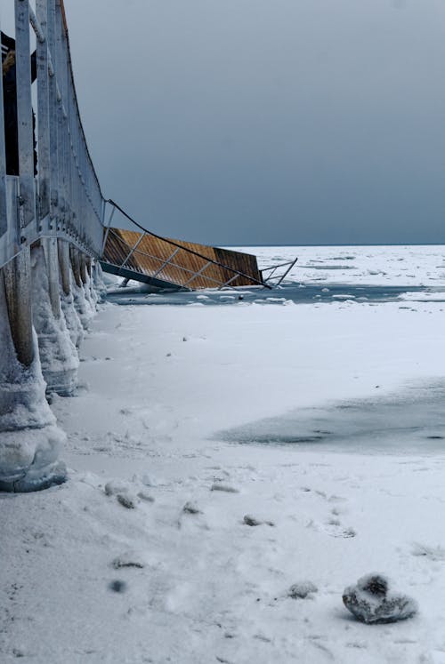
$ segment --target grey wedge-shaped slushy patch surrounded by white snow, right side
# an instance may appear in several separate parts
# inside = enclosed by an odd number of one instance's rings
[[[333,402],[220,431],[236,444],[322,447],[337,452],[445,451],[445,382],[386,396]]]

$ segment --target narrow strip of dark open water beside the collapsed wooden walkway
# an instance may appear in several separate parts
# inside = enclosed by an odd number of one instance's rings
[[[332,303],[338,300],[355,300],[357,302],[391,302],[406,292],[418,292],[418,300],[423,301],[425,292],[442,292],[443,300],[434,300],[445,302],[445,292],[443,289],[425,288],[425,286],[377,286],[377,285],[344,285],[344,284],[284,284],[273,290],[256,287],[239,289],[237,291],[194,291],[194,292],[164,292],[147,293],[132,292],[132,289],[117,289],[117,292],[109,293],[107,299],[116,304],[128,305],[187,305],[202,304],[207,306],[214,305],[233,305],[243,302],[256,302],[263,305],[282,305],[284,300],[291,300],[295,304],[308,304],[322,302],[324,304]],[[409,302],[401,301],[401,306],[409,307]]]

